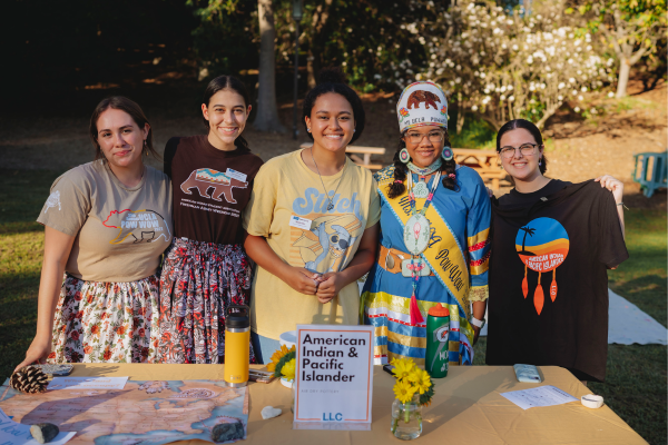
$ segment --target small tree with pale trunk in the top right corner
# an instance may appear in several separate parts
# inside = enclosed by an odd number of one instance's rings
[[[587,28],[600,32],[615,51],[619,61],[617,97],[625,97],[631,67],[644,56],[654,56],[657,42],[666,38],[666,0],[597,0],[578,10],[590,17]]]

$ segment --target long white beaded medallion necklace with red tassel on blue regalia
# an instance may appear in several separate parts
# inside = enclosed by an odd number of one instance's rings
[[[431,225],[429,219],[424,216],[426,209],[429,208],[434,192],[436,191],[436,187],[439,187],[439,180],[441,179],[441,171],[439,171],[434,178],[431,190],[426,196],[426,201],[424,202],[424,207],[420,210],[416,209],[415,206],[415,195],[413,194],[413,175],[409,175],[409,200],[411,202],[411,217],[406,221],[404,227],[404,244],[406,248],[412,254],[411,259],[404,259],[402,261],[402,275],[404,277],[411,277],[411,284],[413,287],[413,293],[411,295],[411,303],[409,305],[410,315],[411,315],[411,324],[416,325],[424,322],[422,314],[420,313],[420,307],[418,306],[418,298],[415,295],[418,294],[418,281],[420,277],[426,277],[431,274],[431,269],[426,261],[420,256],[426,247],[429,246],[429,240],[431,238]]]

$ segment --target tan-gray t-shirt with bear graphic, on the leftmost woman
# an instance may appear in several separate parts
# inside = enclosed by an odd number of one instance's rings
[[[171,185],[146,166],[141,181],[129,188],[106,160],[96,160],[56,179],[37,221],[76,237],[68,274],[88,281],[136,281],[156,273],[171,243]]]

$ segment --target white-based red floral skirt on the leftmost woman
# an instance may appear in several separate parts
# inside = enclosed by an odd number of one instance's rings
[[[48,363],[153,363],[158,277],[131,283],[65,275]]]

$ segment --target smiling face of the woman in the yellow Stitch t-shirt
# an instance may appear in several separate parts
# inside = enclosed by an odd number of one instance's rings
[[[313,135],[313,145],[327,151],[345,150],[353,138],[355,119],[353,106],[336,92],[320,96],[311,117],[306,117],[306,127]]]

